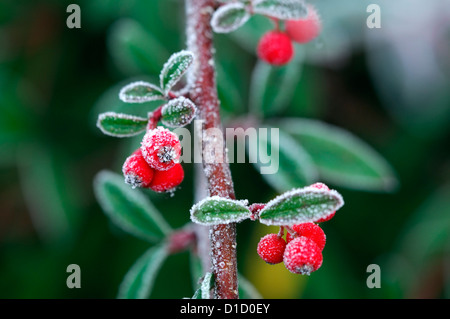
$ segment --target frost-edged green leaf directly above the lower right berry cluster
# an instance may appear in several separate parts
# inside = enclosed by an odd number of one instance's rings
[[[260,211],[259,221],[266,225],[292,225],[326,218],[344,205],[335,190],[313,187],[294,189],[277,196]]]

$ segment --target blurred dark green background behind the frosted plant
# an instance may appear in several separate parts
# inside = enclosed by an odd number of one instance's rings
[[[323,225],[324,263],[310,277],[266,265],[256,245],[271,230],[239,224],[238,268],[265,298],[450,297],[450,3],[392,2],[311,1],[323,33],[296,48],[299,76],[268,116],[353,133],[390,163],[399,187],[329,183],[346,204]],[[66,26],[71,3],[80,5],[80,29]],[[381,7],[381,29],[366,26],[370,3]],[[215,38],[227,123],[255,111],[255,47],[270,27],[254,17]],[[0,48],[0,297],[115,298],[148,244],[109,222],[92,182],[103,169],[120,173],[139,139],[104,136],[95,123],[110,110],[147,113],[151,105],[124,105],[117,94],[132,80],[156,80],[185,48],[183,1],[2,0]],[[173,228],[189,221],[193,204],[192,164],[184,167],[174,197],[148,193]],[[278,194],[251,164],[232,164],[232,174],[240,199]],[[73,263],[80,289],[66,286]],[[151,297],[191,296],[188,263],[187,253],[170,256]],[[373,263],[381,288],[369,289]]]

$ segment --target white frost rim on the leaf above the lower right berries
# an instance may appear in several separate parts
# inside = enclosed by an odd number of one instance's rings
[[[311,195],[316,194],[323,194],[328,195],[329,197],[332,197],[337,200],[336,205],[330,206],[328,204],[322,204],[318,205],[312,209],[314,209],[314,213],[312,214],[314,217],[308,217],[304,214],[299,214],[292,218],[292,216],[288,219],[284,219],[282,217],[274,217],[274,218],[268,218],[268,219],[259,219],[259,221],[262,224],[265,225],[275,225],[275,226],[284,226],[284,225],[292,225],[292,224],[299,224],[299,223],[307,223],[307,222],[314,222],[316,220],[322,219],[333,213],[334,211],[337,211],[344,205],[344,199],[342,198],[342,195],[339,194],[335,190],[326,190],[326,189],[317,189],[311,186],[307,186],[304,188],[297,188],[292,189],[288,192],[283,193],[280,196],[275,197],[271,201],[269,201],[266,206],[260,211],[259,216],[262,216],[264,212],[266,212],[269,209],[272,209],[274,206],[280,204],[284,200],[294,197],[294,196],[304,196],[308,197]]]

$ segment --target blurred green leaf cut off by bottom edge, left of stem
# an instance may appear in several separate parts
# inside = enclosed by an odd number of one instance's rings
[[[145,299],[150,296],[156,275],[168,256],[165,244],[147,250],[130,268],[119,287],[119,299]]]

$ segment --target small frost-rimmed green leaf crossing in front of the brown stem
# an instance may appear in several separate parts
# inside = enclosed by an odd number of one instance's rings
[[[240,222],[251,216],[245,201],[220,196],[207,197],[191,208],[191,220],[202,225]]]

